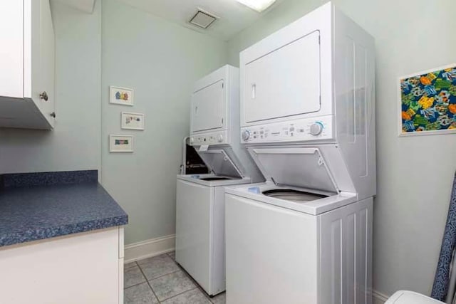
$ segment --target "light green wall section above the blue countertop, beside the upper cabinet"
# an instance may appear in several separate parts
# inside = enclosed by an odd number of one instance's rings
[[[82,14],[51,1],[56,127],[0,129],[0,173],[100,168],[100,4]]]

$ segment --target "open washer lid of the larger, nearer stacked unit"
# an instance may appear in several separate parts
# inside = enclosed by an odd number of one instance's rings
[[[339,192],[316,147],[252,147],[249,152],[264,177],[274,184]]]

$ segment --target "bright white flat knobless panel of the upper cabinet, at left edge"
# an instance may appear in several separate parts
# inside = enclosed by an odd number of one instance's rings
[[[24,6],[19,0],[0,1],[0,96],[23,97]]]

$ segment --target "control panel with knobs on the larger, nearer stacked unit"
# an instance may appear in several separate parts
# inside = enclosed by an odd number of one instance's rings
[[[333,139],[333,115],[241,128],[242,143]]]

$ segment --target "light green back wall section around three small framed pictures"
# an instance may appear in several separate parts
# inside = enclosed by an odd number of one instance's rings
[[[125,243],[175,233],[176,174],[198,78],[227,61],[227,46],[114,0],[102,13],[102,184],[130,216]],[[109,85],[135,89],[135,106],[110,105]],[[120,112],[145,113],[145,131],[120,130]],[[135,136],[110,154],[108,135]]]

